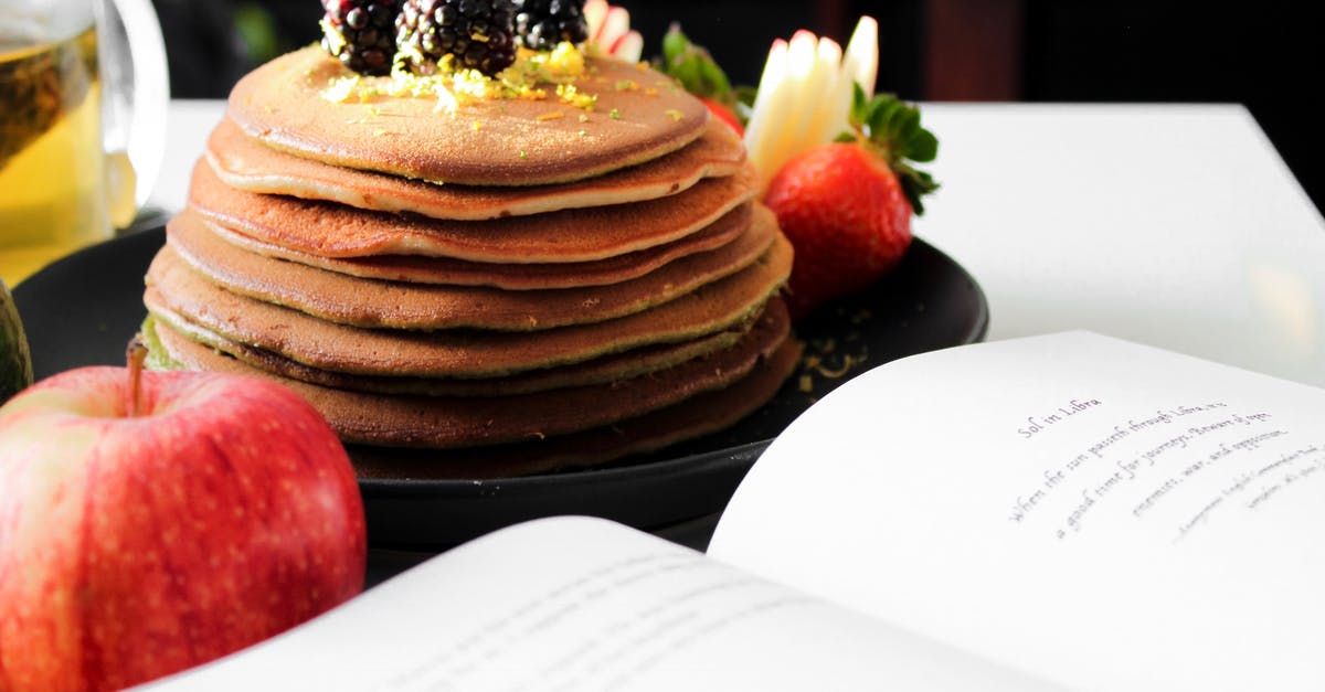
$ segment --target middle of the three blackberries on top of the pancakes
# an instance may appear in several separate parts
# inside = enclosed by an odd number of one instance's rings
[[[396,17],[405,66],[432,74],[445,54],[489,77],[515,62],[510,0],[405,0]]]

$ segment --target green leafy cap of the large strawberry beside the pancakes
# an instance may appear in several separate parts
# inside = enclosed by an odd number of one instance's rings
[[[912,163],[929,163],[938,156],[938,138],[920,122],[920,109],[906,105],[893,94],[865,95],[860,84],[852,93],[851,113],[847,118],[852,131],[843,133],[837,142],[856,142],[882,158],[897,174],[902,194],[917,216],[925,213],[922,198],[938,183]]]

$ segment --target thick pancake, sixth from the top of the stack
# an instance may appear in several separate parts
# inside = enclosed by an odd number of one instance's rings
[[[590,361],[651,343],[731,329],[757,314],[791,272],[791,245],[776,236],[753,265],[632,316],[539,331],[401,331],[334,325],[231,293],[184,262],[147,272],[143,302],[167,325],[195,323],[238,343],[321,370],[360,375],[481,378]]]

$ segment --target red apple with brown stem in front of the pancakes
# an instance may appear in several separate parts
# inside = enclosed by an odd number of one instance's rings
[[[136,380],[85,367],[0,408],[0,689],[132,685],[363,589],[355,475],[311,406],[233,375]]]

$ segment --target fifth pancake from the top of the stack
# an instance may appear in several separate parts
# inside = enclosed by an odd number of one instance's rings
[[[502,290],[371,281],[245,252],[199,224],[167,227],[158,261],[187,261],[221,288],[293,308],[339,325],[507,331],[602,322],[637,313],[749,266],[772,244],[778,223],[758,207],[746,232],[718,249],[692,255],[639,278],[608,286]]]

